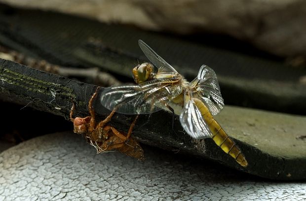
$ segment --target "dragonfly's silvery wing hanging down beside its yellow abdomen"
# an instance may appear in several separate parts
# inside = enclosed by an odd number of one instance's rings
[[[202,139],[212,136],[212,133],[204,121],[200,110],[197,108],[192,99],[185,104],[185,107],[180,115],[180,122],[184,130],[192,138]]]

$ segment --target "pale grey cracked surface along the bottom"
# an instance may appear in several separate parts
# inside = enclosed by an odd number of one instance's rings
[[[259,179],[144,146],[146,161],[95,154],[81,136],[47,134],[0,153],[0,200],[296,200],[305,182]]]

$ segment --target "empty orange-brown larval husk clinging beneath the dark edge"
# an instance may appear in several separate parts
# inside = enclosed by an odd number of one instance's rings
[[[96,89],[88,102],[90,116],[73,118],[75,103],[73,104],[70,112],[70,120],[74,123],[74,133],[82,134],[87,139],[87,142],[96,148],[97,154],[116,149],[128,156],[144,160],[144,151],[142,147],[133,137],[131,137],[138,115],[132,122],[127,134],[123,134],[113,126],[107,125],[115,114],[115,110],[112,111],[104,120],[99,123],[96,122],[92,102],[96,98],[99,88],[100,87]]]

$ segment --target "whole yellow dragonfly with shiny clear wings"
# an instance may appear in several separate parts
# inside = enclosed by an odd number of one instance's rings
[[[138,44],[150,63],[133,68],[138,85],[110,87],[103,91],[101,103],[123,114],[149,114],[167,109],[180,115],[184,130],[192,138],[212,138],[242,167],[248,163],[213,116],[224,107],[215,71],[202,65],[197,76],[188,82],[144,41]]]

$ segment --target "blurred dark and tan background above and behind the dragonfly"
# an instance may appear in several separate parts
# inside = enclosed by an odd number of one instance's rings
[[[0,0],[0,57],[100,86],[132,83],[144,40],[228,105],[306,114],[304,0]]]

